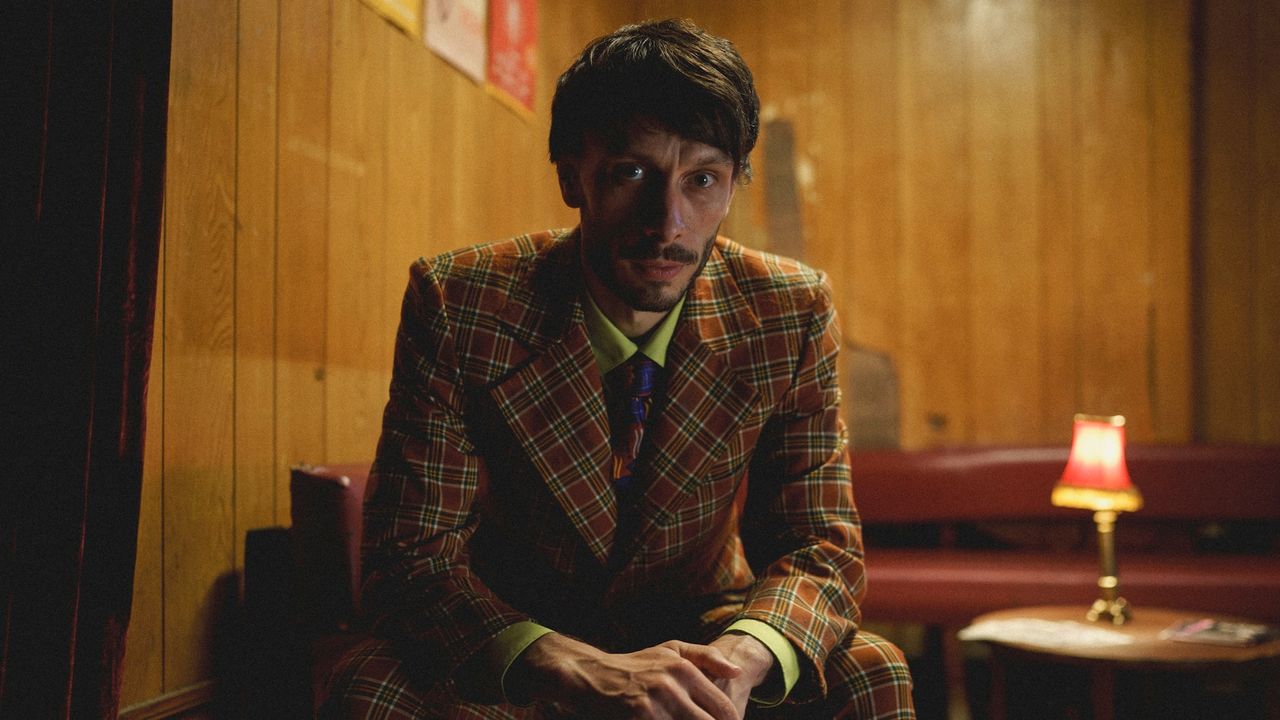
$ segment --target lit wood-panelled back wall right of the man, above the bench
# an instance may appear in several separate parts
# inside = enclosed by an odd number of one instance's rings
[[[902,445],[1065,442],[1078,411],[1190,436],[1189,3],[645,10],[737,38],[794,128],[795,232],[893,359]],[[730,232],[787,246],[769,179]]]

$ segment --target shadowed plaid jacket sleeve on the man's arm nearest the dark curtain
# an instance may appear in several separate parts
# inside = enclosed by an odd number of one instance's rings
[[[463,423],[453,333],[440,283],[420,260],[365,496],[362,606],[375,633],[411,641],[413,666],[435,680],[456,678],[499,632],[527,620],[467,562],[485,468]]]

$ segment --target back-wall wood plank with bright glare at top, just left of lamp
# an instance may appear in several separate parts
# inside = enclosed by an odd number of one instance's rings
[[[969,442],[1016,442],[1041,405],[1037,35],[1024,3],[969,8]]]

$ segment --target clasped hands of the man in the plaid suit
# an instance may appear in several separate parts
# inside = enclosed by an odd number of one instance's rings
[[[742,720],[773,653],[746,634],[609,653],[552,633],[534,642],[520,665],[521,694],[582,717]]]

